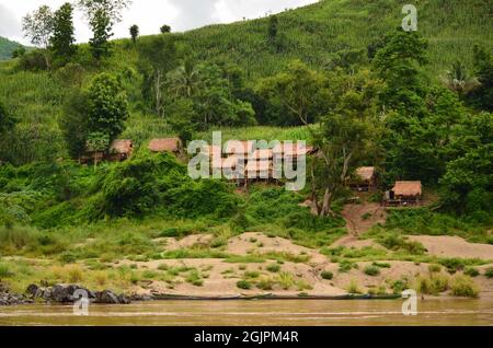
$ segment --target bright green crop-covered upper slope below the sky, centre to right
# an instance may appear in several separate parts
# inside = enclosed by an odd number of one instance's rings
[[[184,36],[202,58],[232,60],[255,79],[296,58],[324,68],[337,51],[366,53],[368,45],[401,24],[405,3],[417,8],[419,31],[429,40],[432,74],[443,73],[459,58],[470,65],[474,44],[492,45],[493,5],[483,0],[322,0],[278,14],[278,32],[286,37],[280,53],[266,44],[268,19],[213,25]]]

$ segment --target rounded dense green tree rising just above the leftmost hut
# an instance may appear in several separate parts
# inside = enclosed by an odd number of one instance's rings
[[[103,132],[113,141],[125,129],[128,102],[118,80],[101,73],[88,90],[88,120],[91,132]]]

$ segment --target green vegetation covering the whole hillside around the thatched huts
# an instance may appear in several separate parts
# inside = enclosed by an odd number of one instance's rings
[[[403,3],[320,1],[187,33],[139,37],[134,26],[117,40],[108,40],[115,14],[85,7],[94,37],[82,45],[65,4],[46,47],[0,63],[0,256],[229,259],[228,239],[255,231],[340,257],[328,247],[346,233],[345,179],[362,165],[378,169],[380,189],[422,181],[439,199],[391,211],[367,235],[389,253],[355,258],[447,262],[405,234],[493,243],[491,4],[416,1],[419,31],[404,32]],[[282,182],[239,193],[192,179],[184,153],[147,149],[153,138],[186,143],[214,130],[223,140],[307,140],[320,155],[299,192]],[[133,156],[98,160],[117,138],[134,141]],[[195,233],[214,243],[157,252],[154,239]]]

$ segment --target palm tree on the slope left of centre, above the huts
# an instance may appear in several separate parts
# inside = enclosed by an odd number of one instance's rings
[[[174,96],[190,98],[195,95],[199,89],[199,71],[193,59],[185,59],[183,65],[168,74],[170,91]]]

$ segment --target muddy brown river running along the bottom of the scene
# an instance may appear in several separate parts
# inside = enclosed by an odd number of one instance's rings
[[[404,316],[401,300],[156,301],[95,305],[89,316],[71,305],[0,308],[0,325],[493,325],[493,299],[419,301]]]

